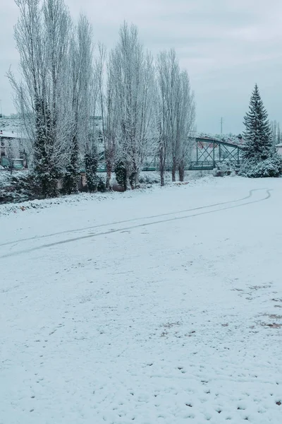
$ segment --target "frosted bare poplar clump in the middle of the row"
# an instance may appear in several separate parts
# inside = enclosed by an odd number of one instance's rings
[[[154,119],[154,66],[145,54],[135,25],[124,23],[110,56],[114,101],[118,111],[118,159],[123,160],[128,184],[136,186],[140,168],[157,148]]]

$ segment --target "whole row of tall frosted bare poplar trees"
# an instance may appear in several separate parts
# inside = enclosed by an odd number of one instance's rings
[[[78,190],[80,167],[97,188],[99,150],[104,151],[106,189],[123,170],[125,189],[136,187],[142,165],[157,157],[164,185],[183,180],[190,160],[195,100],[176,52],[145,52],[135,25],[123,23],[116,46],[94,49],[86,16],[73,23],[63,0],[15,0],[21,81],[10,70],[16,107],[30,143],[32,170],[44,196]],[[95,115],[102,117],[97,128]]]

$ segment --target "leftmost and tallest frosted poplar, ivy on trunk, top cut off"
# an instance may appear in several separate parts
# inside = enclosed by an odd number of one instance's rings
[[[54,196],[57,179],[66,160],[66,119],[61,110],[66,93],[68,9],[62,0],[16,0],[20,17],[15,38],[20,53],[23,81],[11,71],[16,105],[23,116],[25,134],[31,140],[34,169],[42,194]],[[66,102],[65,102],[66,103]]]

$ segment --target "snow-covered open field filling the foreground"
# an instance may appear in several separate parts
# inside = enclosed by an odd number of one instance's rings
[[[100,200],[0,216],[0,423],[282,423],[282,179]]]

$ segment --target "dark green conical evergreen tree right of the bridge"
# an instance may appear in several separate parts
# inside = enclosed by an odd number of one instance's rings
[[[243,158],[252,163],[259,163],[270,158],[274,152],[271,142],[271,126],[257,84],[252,92],[249,112],[245,115],[244,124]]]

